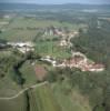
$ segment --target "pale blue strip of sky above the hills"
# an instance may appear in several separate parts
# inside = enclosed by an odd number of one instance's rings
[[[20,3],[39,3],[39,4],[59,4],[59,3],[60,4],[62,3],[110,4],[110,0],[0,0],[0,2],[20,2]]]

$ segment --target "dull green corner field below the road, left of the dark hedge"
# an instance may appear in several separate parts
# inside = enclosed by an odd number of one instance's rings
[[[12,100],[0,100],[0,111],[27,111],[27,99],[24,94]]]

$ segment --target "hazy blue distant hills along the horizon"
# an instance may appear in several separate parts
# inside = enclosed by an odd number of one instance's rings
[[[28,9],[104,9],[110,10],[110,4],[24,4],[24,3],[0,3],[0,10],[28,10]]]

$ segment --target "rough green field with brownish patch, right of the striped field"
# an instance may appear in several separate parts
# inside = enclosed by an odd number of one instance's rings
[[[88,99],[82,97],[77,89],[72,89],[72,92],[70,90],[71,88],[66,81],[53,84],[53,93],[62,111],[91,111]]]

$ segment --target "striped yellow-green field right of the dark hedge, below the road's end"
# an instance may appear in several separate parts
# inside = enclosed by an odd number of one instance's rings
[[[61,111],[49,84],[29,91],[30,111]]]

